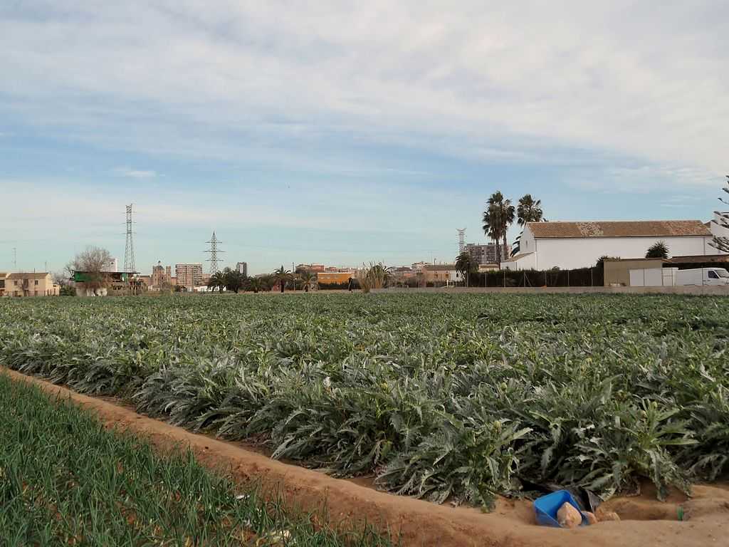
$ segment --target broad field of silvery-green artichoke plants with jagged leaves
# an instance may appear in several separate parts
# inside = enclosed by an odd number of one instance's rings
[[[0,364],[382,489],[490,507],[729,473],[729,298],[0,301]]]

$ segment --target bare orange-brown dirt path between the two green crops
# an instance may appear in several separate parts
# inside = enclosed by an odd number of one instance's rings
[[[195,435],[155,419],[136,414],[109,400],[86,397],[64,387],[24,376],[0,367],[17,381],[28,381],[52,395],[70,398],[98,414],[108,427],[119,427],[149,438],[169,450],[190,446],[198,460],[210,468],[225,470],[241,482],[261,481],[278,489],[286,501],[306,511],[326,505],[332,524],[351,528],[367,521],[383,531],[400,535],[404,546],[489,547],[706,547],[729,545],[729,489],[696,486],[689,521],[677,521],[677,504],[685,498],[674,494],[658,503],[651,492],[641,497],[615,498],[605,506],[617,511],[619,522],[566,530],[534,524],[531,503],[499,500],[496,511],[434,505],[409,497],[377,492],[356,481],[331,478],[318,471],[277,462],[234,443]],[[656,520],[661,519],[661,520]]]

